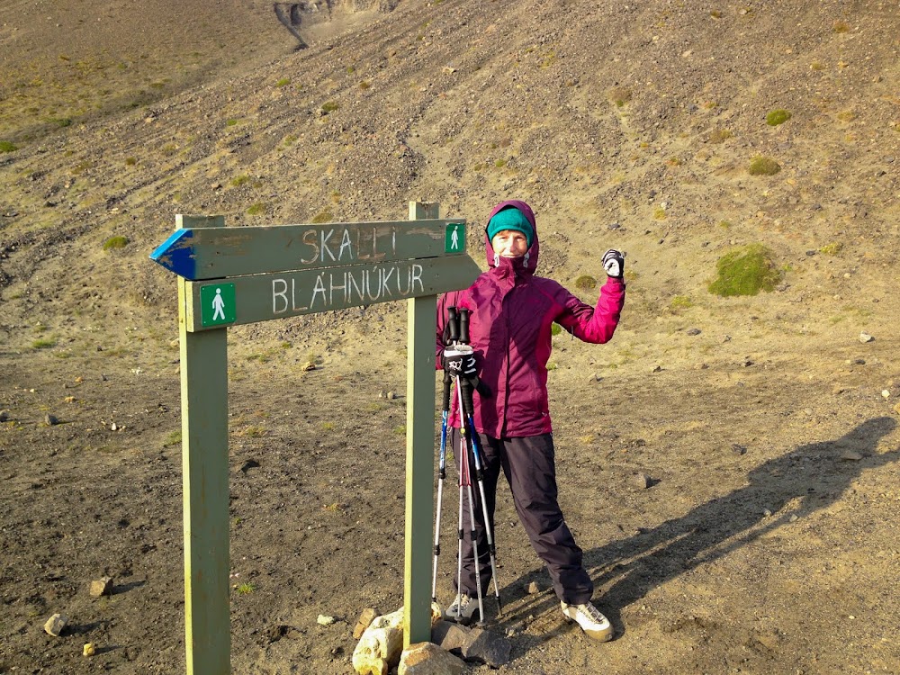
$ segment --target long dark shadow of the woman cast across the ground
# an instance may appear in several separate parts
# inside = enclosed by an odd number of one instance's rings
[[[738,490],[651,530],[585,551],[584,566],[598,589],[595,602],[612,622],[616,637],[626,631],[621,609],[650,590],[771,533],[794,516],[805,518],[831,506],[861,473],[900,459],[900,448],[878,454],[878,442],[896,426],[892,418],[869,419],[835,440],[799,446],[757,466]],[[861,458],[844,456],[848,452]],[[523,581],[536,580],[538,573],[509,584],[507,592],[515,594]],[[610,581],[601,595],[599,589]],[[528,605],[535,615],[558,607],[552,591]]]

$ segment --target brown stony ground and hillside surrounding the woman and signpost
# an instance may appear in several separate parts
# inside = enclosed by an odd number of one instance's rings
[[[896,672],[898,51],[878,0],[0,3],[0,672],[183,670],[175,214],[440,202],[483,264],[509,198],[540,274],[594,302],[618,247],[628,292],[550,364],[617,639],[563,623],[501,490],[506,671]],[[710,293],[741,247],[770,290]],[[346,673],[399,603],[404,319],[229,329],[235,672]]]

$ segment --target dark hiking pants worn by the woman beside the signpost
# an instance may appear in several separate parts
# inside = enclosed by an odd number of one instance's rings
[[[451,440],[458,471],[459,429],[452,430]],[[553,436],[544,434],[521,438],[491,438],[480,434],[479,448],[482,452],[484,470],[484,498],[487,502],[488,517],[491,519],[494,541],[497,541],[496,530],[493,528],[494,507],[497,503],[497,482],[502,469],[509,482],[518,518],[525,527],[531,545],[550,572],[557,597],[570,605],[581,605],[590,600],[594,584],[581,565],[581,548],[575,544],[557,501]],[[488,596],[492,595],[489,593],[491,558],[488,552],[487,533],[484,529],[482,500],[478,483],[475,482],[475,467],[471,458],[469,464],[473,481],[478,568],[482,581],[482,595]],[[462,592],[474,598],[475,565],[467,491],[464,491],[463,528]]]

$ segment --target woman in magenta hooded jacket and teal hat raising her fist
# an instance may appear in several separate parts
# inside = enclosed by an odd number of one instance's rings
[[[594,584],[581,563],[581,548],[575,544],[557,501],[547,360],[554,322],[584,342],[605,343],[613,337],[625,302],[625,260],[617,250],[604,254],[608,280],[600,289],[597,306],[591,307],[562,285],[535,275],[539,242],[535,215],[526,202],[495,206],[485,234],[490,269],[469,288],[446,293],[438,301],[437,367],[444,364],[447,308],[469,310],[470,344],[478,378],[491,393],[483,396],[476,392],[473,397],[491,532],[502,469],[518,518],[550,572],[563,614],[578,622],[586,635],[606,642],[613,636],[612,626],[590,602]],[[458,410],[453,411],[450,423],[455,429],[451,446],[457,448]],[[459,455],[456,450],[455,455]],[[459,468],[459,456],[456,466]],[[475,500],[477,567],[481,588],[487,590],[491,564],[477,491]],[[478,601],[470,540],[473,528],[468,523],[468,510],[464,513],[463,571],[459,582],[454,581],[457,595],[445,617],[459,617],[468,623],[478,611]]]

